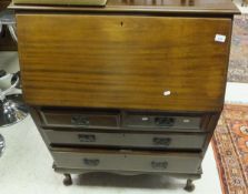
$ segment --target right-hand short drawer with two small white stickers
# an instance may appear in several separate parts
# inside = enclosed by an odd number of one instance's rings
[[[206,124],[206,115],[171,115],[128,112],[123,115],[125,127],[165,129],[165,130],[201,130]]]

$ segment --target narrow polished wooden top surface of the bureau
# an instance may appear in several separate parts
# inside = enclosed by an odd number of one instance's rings
[[[108,0],[105,7],[33,4],[29,3],[10,6],[16,10],[30,11],[87,11],[87,12],[157,12],[157,13],[208,13],[235,14],[239,10],[231,0]],[[52,1],[52,0],[51,0]],[[73,0],[71,0],[72,2]],[[68,0],[70,4],[70,0]]]

